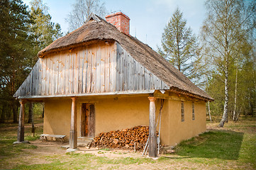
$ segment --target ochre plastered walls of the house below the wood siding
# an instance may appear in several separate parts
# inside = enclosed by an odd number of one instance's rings
[[[149,124],[148,95],[79,98],[77,100],[78,136],[80,136],[81,103],[95,104],[95,135],[100,132]],[[71,99],[45,101],[44,133],[69,137],[71,104]],[[155,105],[157,120],[160,99],[157,99]],[[181,101],[165,100],[160,131],[162,145],[175,145],[206,130],[205,102],[194,102],[194,108],[195,120],[192,120],[192,103],[184,101],[184,122],[182,122]]]

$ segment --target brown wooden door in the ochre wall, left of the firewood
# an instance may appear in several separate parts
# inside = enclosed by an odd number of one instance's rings
[[[94,103],[82,103],[81,137],[94,137],[94,135],[95,135]]]

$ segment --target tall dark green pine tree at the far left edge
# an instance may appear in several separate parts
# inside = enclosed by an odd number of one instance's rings
[[[29,72],[30,47],[28,35],[31,23],[28,6],[20,0],[2,0],[0,2],[0,82],[1,107],[11,107],[13,123],[18,118],[18,101],[13,94]]]

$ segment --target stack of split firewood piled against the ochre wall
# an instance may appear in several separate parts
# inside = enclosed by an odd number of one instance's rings
[[[101,132],[94,138],[91,147],[143,150],[148,140],[148,126]]]

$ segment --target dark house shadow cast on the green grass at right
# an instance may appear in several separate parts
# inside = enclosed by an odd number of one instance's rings
[[[181,142],[177,154],[186,157],[238,160],[243,132],[211,130]]]

